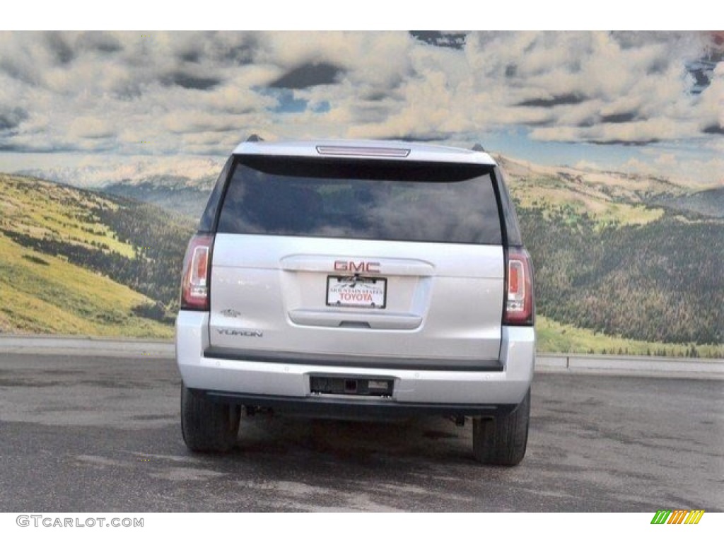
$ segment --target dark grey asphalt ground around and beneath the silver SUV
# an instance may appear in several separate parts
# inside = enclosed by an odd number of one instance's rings
[[[720,380],[536,374],[528,451],[471,425],[244,418],[193,455],[169,358],[0,353],[0,511],[724,510]]]

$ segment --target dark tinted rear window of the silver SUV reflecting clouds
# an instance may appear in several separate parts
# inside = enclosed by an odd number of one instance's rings
[[[243,156],[218,232],[500,245],[479,165]]]

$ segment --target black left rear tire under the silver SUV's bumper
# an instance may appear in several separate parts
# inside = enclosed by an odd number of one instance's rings
[[[239,432],[241,406],[216,403],[181,385],[181,432],[194,452],[227,452]]]

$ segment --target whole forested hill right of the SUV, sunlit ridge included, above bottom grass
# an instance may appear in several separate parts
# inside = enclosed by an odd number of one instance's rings
[[[539,314],[633,340],[724,343],[724,219],[701,213],[720,189],[692,194],[652,177],[508,167]]]

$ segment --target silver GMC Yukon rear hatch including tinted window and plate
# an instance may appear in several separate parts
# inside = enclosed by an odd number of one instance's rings
[[[238,156],[211,264],[211,351],[497,364],[505,256],[491,167]]]

